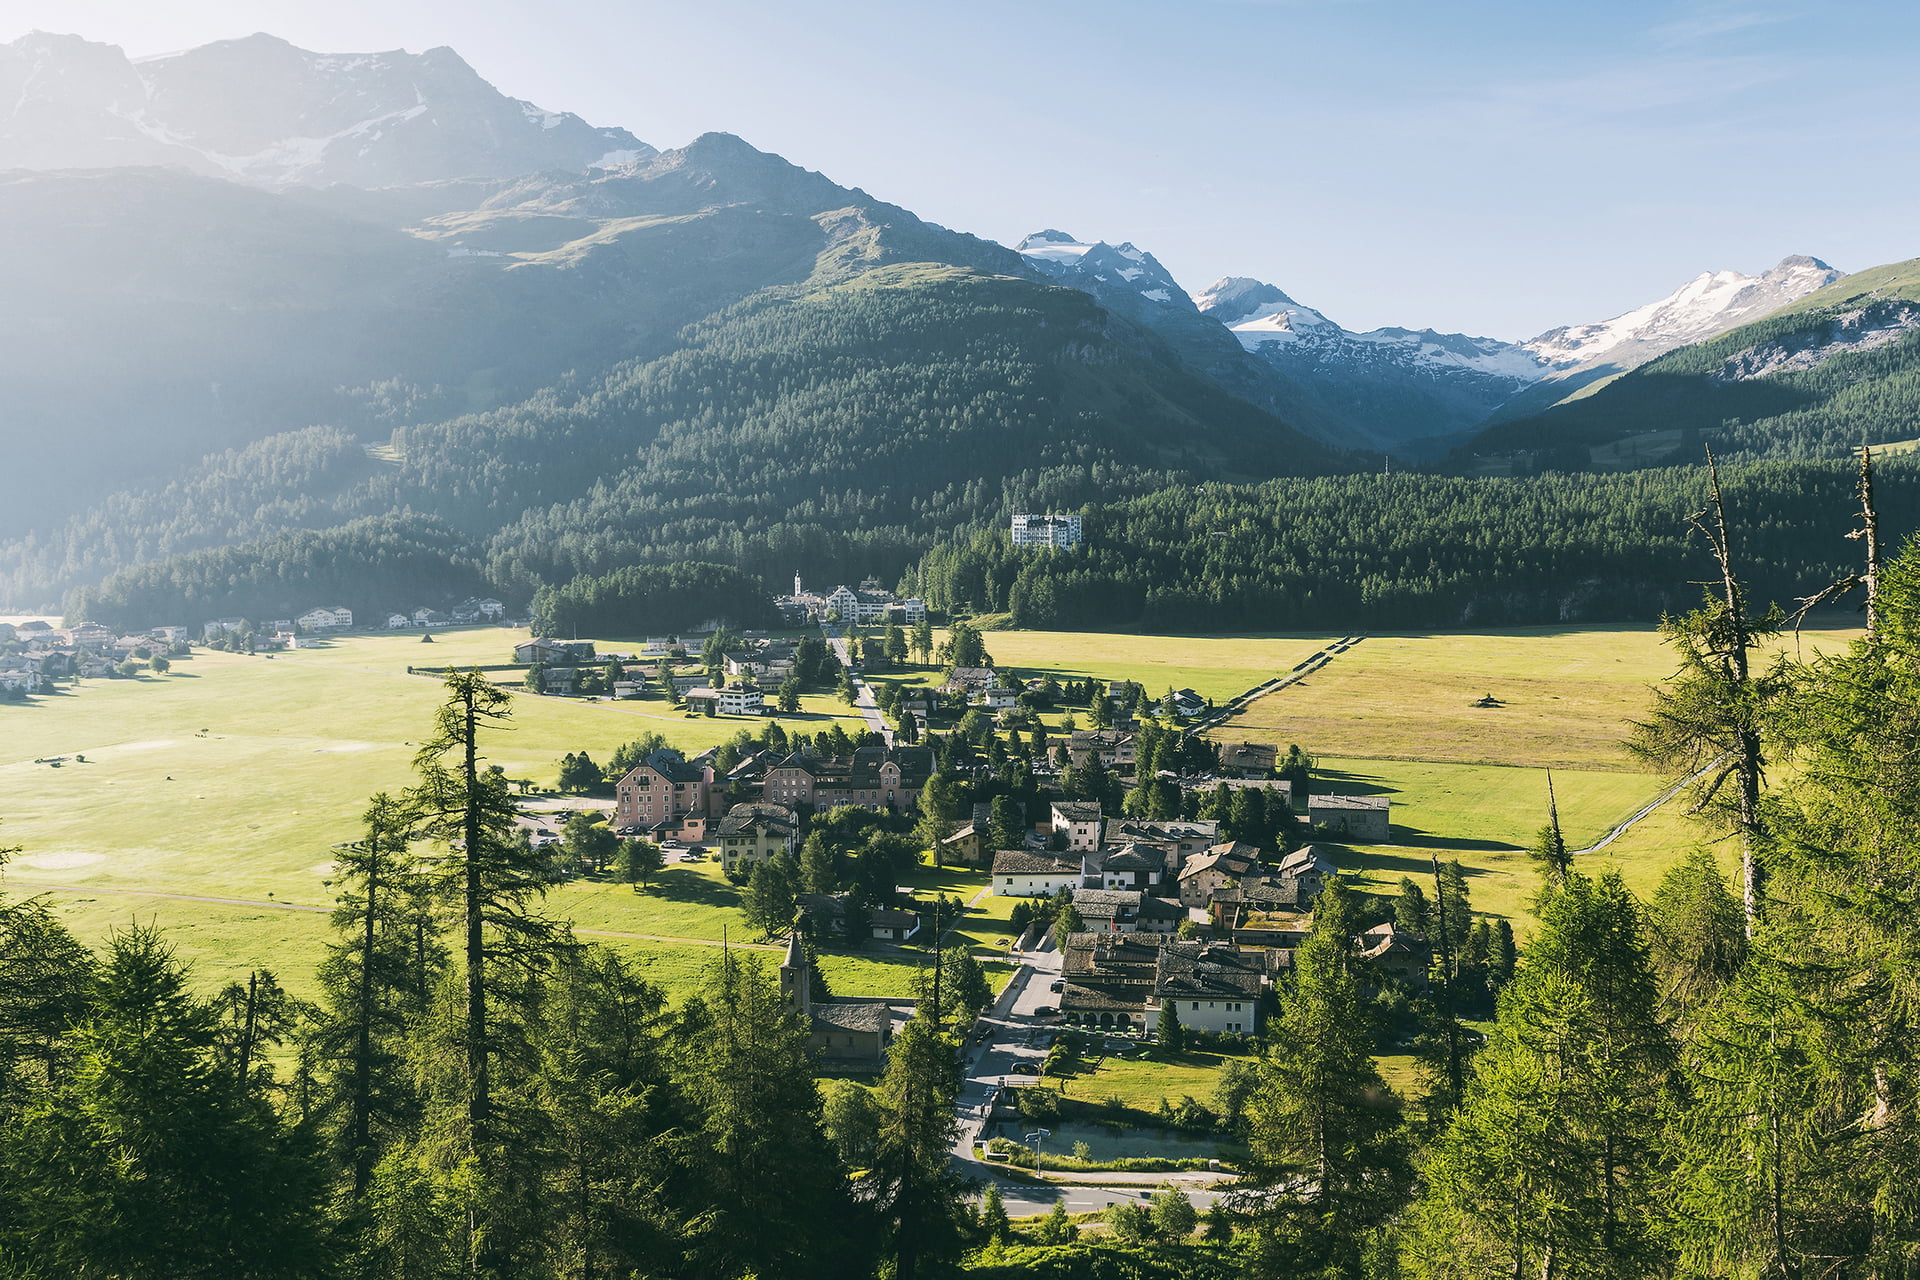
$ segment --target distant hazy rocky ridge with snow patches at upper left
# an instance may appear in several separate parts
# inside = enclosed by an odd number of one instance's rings
[[[177,165],[261,186],[392,186],[624,165],[624,129],[507,98],[459,54],[311,54],[269,35],[129,59],[35,31],[0,44],[0,169]]]

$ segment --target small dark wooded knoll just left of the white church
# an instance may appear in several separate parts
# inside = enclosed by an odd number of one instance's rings
[[[780,624],[766,585],[730,564],[630,564],[534,595],[536,635],[691,631],[708,620]]]

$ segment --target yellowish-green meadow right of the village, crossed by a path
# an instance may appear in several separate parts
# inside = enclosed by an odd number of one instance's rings
[[[1853,635],[1851,626],[1809,628],[1788,643],[1812,654]],[[1653,628],[1369,635],[1308,679],[1258,699],[1215,737],[1300,743],[1319,758],[1317,783],[1392,796],[1394,842],[1338,856],[1357,887],[1396,892],[1404,875],[1430,879],[1434,854],[1457,858],[1475,910],[1509,917],[1524,935],[1536,889],[1524,850],[1548,819],[1546,771],[1576,848],[1659,798],[1665,781],[1640,771],[1624,741],[1672,668]],[[1486,695],[1501,706],[1475,706]],[[1584,862],[1617,867],[1649,894],[1711,835],[1665,806]],[[1730,854],[1724,862],[1732,865]]]

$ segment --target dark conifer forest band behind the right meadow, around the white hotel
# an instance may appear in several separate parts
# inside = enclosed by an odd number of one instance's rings
[[[1722,472],[1761,599],[1791,601],[1849,555],[1855,466]],[[1880,466],[1889,532],[1920,524],[1920,468]],[[1521,480],[1323,476],[1190,486],[1087,512],[1087,545],[1014,549],[979,532],[929,551],[910,581],[943,610],[1029,628],[1167,631],[1453,628],[1653,620],[1697,599],[1688,516],[1699,466]]]

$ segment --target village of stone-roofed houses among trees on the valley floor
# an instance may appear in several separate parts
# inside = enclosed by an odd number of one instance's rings
[[[985,877],[968,908],[870,881],[789,892],[770,935],[791,919],[791,938],[806,938],[808,950],[939,950],[935,912],[948,910],[941,925],[950,927],[996,898],[1020,927],[1010,958],[1056,975],[1052,1000],[1035,1006],[1043,1021],[1144,1040],[1171,1007],[1196,1031],[1252,1038],[1311,931],[1315,898],[1340,871],[1340,846],[1390,839],[1388,796],[1311,787],[1298,748],[1288,760],[1273,745],[1213,741],[1213,708],[1190,689],[1064,687],[1050,674],[956,652],[952,639],[939,652],[958,662],[908,676],[904,660],[885,654],[889,633],[899,654],[904,628],[924,626],[918,601],[862,583],[797,589],[785,604],[833,639],[720,629],[605,652],[536,637],[513,656],[526,685],[549,697],[647,697],[756,723],[726,747],[691,756],[657,747],[630,768],[603,770],[618,839],[712,858],[751,892],[760,867],[799,877],[816,819],[845,825],[858,810],[872,819],[854,831],[893,831],[914,858]],[[964,624],[958,639],[960,649],[979,641]],[[841,687],[868,716],[868,733],[835,729],[793,748],[780,699],[803,685]],[[1060,710],[1068,714],[1050,731],[1046,716]],[[1098,727],[1079,727],[1075,712]],[[528,823],[536,839],[559,839],[540,818]],[[1421,933],[1371,923],[1354,948],[1379,979],[1427,984],[1432,948]],[[789,952],[787,969],[804,963]],[[812,983],[789,979],[793,998],[806,998]],[[845,1006],[808,1000],[814,1048],[833,1065],[877,1067],[912,1007],[912,992]]]

